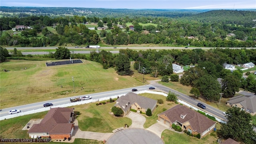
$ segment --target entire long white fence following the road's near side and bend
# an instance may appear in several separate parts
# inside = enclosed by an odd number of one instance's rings
[[[137,92],[134,92],[136,94],[142,94],[142,93],[150,93],[150,94],[160,94],[160,95],[163,95],[163,96],[168,96],[168,94],[164,93],[164,92],[156,92],[156,91],[150,91],[150,90],[142,90],[142,91],[137,91]],[[56,105],[56,106],[51,106],[51,108],[64,108],[64,107],[68,107],[68,106],[76,106],[76,105],[80,105],[80,104],[88,104],[88,103],[91,103],[91,102],[100,102],[100,101],[103,101],[103,100],[109,100],[110,98],[117,98],[118,96],[124,96],[126,94],[119,94],[119,95],[116,95],[116,96],[108,96],[108,97],[104,97],[104,98],[99,98],[99,99],[90,99],[90,100],[82,100],[82,101],[78,101],[78,102],[70,102],[70,103],[67,103],[67,104],[60,104],[60,105]],[[200,110],[182,100],[179,100],[178,99],[178,102],[181,103],[181,104],[184,104],[194,110]],[[24,115],[27,115],[27,114],[34,114],[34,113],[37,113],[37,112],[44,112],[44,111],[47,111],[47,110],[50,110],[50,107],[45,107],[45,108],[39,108],[39,109],[36,109],[36,110],[30,110],[30,111],[26,111],[26,112],[20,112],[20,113],[17,113],[17,114],[10,114],[10,115],[7,115],[7,116],[1,116],[0,117],[0,120],[4,120],[4,119],[8,119],[8,118],[14,118],[14,117],[17,117],[17,116],[24,116]],[[202,110],[200,110],[202,111]],[[204,112],[204,111],[203,111]],[[207,112],[205,112],[205,114],[208,114]],[[210,116],[212,116],[211,114],[208,114]],[[214,116],[215,117],[215,116]],[[225,121],[223,120],[220,120],[219,118],[216,118],[215,119],[218,121],[218,122],[221,122],[221,123],[226,123]]]

